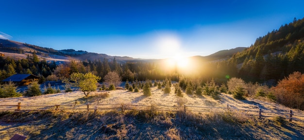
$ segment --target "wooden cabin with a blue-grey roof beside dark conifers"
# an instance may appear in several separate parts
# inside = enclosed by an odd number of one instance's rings
[[[40,78],[38,76],[33,74],[15,74],[2,80],[2,82],[7,83],[11,81],[19,86],[22,86],[31,84],[33,81],[39,81],[39,79]]]

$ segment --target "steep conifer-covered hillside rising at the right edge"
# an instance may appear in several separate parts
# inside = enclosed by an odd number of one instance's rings
[[[278,81],[294,71],[304,73],[304,18],[258,37],[253,45],[233,55],[238,77],[252,82]],[[272,85],[275,83],[272,83]]]

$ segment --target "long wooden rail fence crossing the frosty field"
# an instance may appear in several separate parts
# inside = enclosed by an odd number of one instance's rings
[[[285,115],[289,122],[292,120],[297,121],[304,121],[303,115],[297,115],[292,112],[292,110],[289,110],[289,112],[266,112],[262,109],[258,110],[244,110],[244,109],[235,109],[230,108],[227,104],[226,107],[202,107],[202,106],[190,106],[190,105],[184,105],[184,106],[169,106],[169,105],[138,105],[138,104],[85,104],[80,105],[75,102],[74,105],[21,105],[21,102],[18,102],[17,105],[0,105],[0,111],[45,111],[45,110],[83,110],[83,111],[90,111],[94,110],[94,113],[96,113],[98,110],[147,110],[147,108],[150,108],[149,110],[154,111],[170,111],[170,112],[178,112],[178,111],[184,111],[184,112],[227,112],[227,111],[237,111],[241,113],[245,113],[247,115],[253,115],[258,116],[258,118],[262,117],[275,117],[273,114],[281,114]],[[5,107],[5,108],[3,108]]]

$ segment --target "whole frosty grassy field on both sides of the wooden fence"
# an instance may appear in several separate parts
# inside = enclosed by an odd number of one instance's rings
[[[172,90],[173,91],[173,90]],[[101,94],[108,97],[101,98]],[[156,87],[152,96],[126,90],[99,91],[84,98],[79,91],[58,93],[38,97],[1,98],[0,105],[54,105],[97,103],[124,103],[142,105],[171,105],[182,103],[192,106],[258,109],[271,112],[288,112],[289,108],[267,100],[247,98],[236,100],[222,93],[220,100],[206,96],[186,95],[177,97],[174,93],[164,94]],[[293,110],[303,114],[303,111]],[[159,112],[153,106],[143,111],[120,112],[98,111],[42,111],[42,112],[0,112],[0,139],[9,140],[15,133],[28,136],[28,140],[227,140],[227,139],[271,139],[303,140],[304,123],[287,122],[282,116],[258,119],[242,112]]]

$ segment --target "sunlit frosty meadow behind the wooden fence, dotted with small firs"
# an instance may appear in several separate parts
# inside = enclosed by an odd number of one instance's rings
[[[95,91],[90,93],[89,97],[85,98],[81,91],[74,91],[68,93],[57,93],[49,95],[41,95],[36,97],[18,97],[18,98],[0,98],[0,105],[56,105],[56,104],[70,104],[73,105],[75,101],[79,104],[87,103],[102,103],[102,104],[138,104],[138,105],[169,105],[180,106],[182,104],[190,106],[206,106],[206,107],[227,107],[227,104],[232,109],[258,110],[259,108],[271,112],[289,112],[289,108],[278,105],[274,102],[261,100],[257,98],[247,98],[247,100],[238,100],[232,95],[221,93],[220,99],[215,100],[208,96],[186,95],[178,97],[174,94],[174,89],[171,87],[170,94],[165,94],[162,89],[152,87],[151,96],[144,96],[142,91],[129,92],[128,90],[114,90],[114,91]],[[102,97],[107,93],[107,97]],[[299,110],[293,110],[294,113],[304,114]]]

